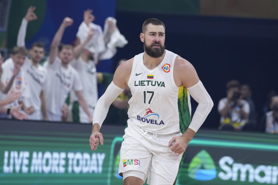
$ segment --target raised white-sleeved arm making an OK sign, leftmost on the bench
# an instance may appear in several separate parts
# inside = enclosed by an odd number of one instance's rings
[[[30,6],[27,10],[25,17],[22,19],[18,35],[17,35],[17,46],[22,47],[25,46],[25,36],[26,36],[26,29],[29,21],[33,21],[37,19],[34,10],[36,9],[35,6]]]

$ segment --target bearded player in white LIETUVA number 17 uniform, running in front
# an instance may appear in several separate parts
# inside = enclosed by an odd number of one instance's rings
[[[123,184],[142,185],[148,177],[149,185],[172,185],[182,153],[211,111],[213,101],[194,67],[164,50],[165,26],[160,20],[146,20],[140,39],[145,52],[118,67],[113,82],[97,102],[89,143],[92,150],[99,139],[103,145],[100,126],[110,104],[129,86],[132,97],[119,165]],[[199,103],[192,121],[189,93]]]

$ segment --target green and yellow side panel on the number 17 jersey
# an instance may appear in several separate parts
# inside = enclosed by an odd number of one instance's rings
[[[180,131],[184,133],[191,121],[191,115],[189,112],[189,106],[187,101],[187,89],[184,86],[179,88],[178,92],[178,110],[180,116]]]

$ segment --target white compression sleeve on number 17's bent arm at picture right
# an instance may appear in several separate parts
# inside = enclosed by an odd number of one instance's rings
[[[199,103],[193,115],[192,121],[188,127],[192,129],[194,132],[197,132],[197,130],[204,123],[209,112],[211,112],[211,109],[213,107],[213,101],[200,80],[194,86],[186,89],[189,92],[189,94],[193,97],[193,99],[195,99],[195,101]]]

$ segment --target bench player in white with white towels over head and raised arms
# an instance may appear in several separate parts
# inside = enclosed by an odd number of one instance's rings
[[[84,21],[79,26],[76,34],[81,44],[74,48],[77,60],[73,60],[71,65],[80,75],[83,84],[83,95],[90,113],[93,115],[98,100],[96,65],[99,60],[112,58],[116,54],[116,47],[123,47],[127,41],[118,31],[115,18],[106,19],[105,33],[103,34],[101,27],[92,23],[94,21],[92,10],[85,10],[83,17]],[[123,39],[126,42],[121,42]],[[80,53],[81,55],[78,57]],[[89,123],[88,116],[83,108],[79,107],[73,93],[70,94],[70,100],[69,108],[72,108],[73,121]]]

